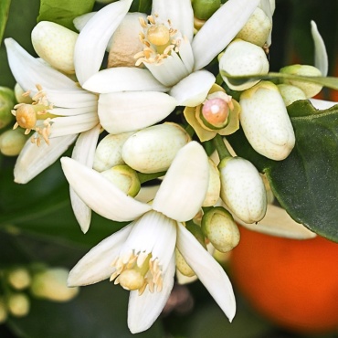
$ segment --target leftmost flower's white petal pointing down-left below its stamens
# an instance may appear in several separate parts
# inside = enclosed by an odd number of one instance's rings
[[[49,145],[42,142],[39,147],[28,140],[16,160],[15,182],[26,184],[49,165],[54,164],[58,157],[66,152],[69,145],[74,143],[77,136],[77,134],[73,134],[51,139]]]

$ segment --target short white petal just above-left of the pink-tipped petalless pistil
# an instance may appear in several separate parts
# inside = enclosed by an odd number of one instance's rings
[[[169,91],[179,106],[196,107],[206,100],[206,95],[215,83],[215,76],[207,70],[197,70],[181,79]]]

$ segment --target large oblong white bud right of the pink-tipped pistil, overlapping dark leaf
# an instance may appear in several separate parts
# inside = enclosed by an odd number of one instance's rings
[[[241,94],[239,104],[241,126],[255,151],[275,161],[288,157],[295,135],[277,86],[261,81]]]

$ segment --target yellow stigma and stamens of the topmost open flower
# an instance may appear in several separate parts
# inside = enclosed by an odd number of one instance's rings
[[[182,37],[177,29],[172,27],[170,20],[159,23],[158,16],[148,16],[148,23],[140,17],[143,32],[140,33],[143,51],[137,53],[135,66],[142,63],[161,64],[164,58],[170,56],[171,51],[178,52]]]

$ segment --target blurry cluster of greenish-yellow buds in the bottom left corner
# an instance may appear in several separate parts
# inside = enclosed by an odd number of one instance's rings
[[[31,299],[70,301],[79,292],[69,289],[66,280],[68,269],[46,268],[37,264],[2,269],[0,280],[0,323],[8,315],[25,317],[31,307]]]

